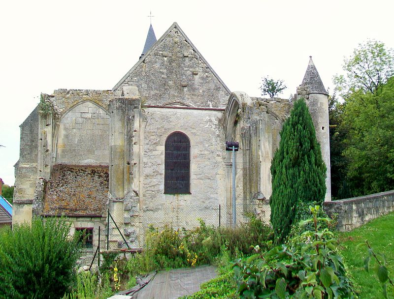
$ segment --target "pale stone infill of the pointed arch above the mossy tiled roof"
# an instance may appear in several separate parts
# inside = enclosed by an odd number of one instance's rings
[[[85,101],[61,119],[57,163],[108,164],[109,116],[97,104]]]

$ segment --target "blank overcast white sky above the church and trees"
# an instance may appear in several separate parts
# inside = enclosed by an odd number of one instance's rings
[[[323,83],[368,38],[394,47],[389,0],[13,0],[0,3],[0,178],[14,183],[19,125],[40,92],[109,90],[156,37],[177,22],[231,91],[260,96],[261,78],[283,79],[288,98],[309,56]]]

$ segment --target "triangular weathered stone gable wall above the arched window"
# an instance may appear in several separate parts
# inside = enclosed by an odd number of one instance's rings
[[[229,92],[177,28],[136,65],[120,85],[136,86],[148,105],[181,101],[195,107],[224,108]]]

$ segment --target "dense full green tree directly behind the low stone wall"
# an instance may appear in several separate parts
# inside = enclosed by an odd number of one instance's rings
[[[353,196],[394,189],[394,77],[374,94],[361,90],[346,100],[349,128],[347,179]]]

